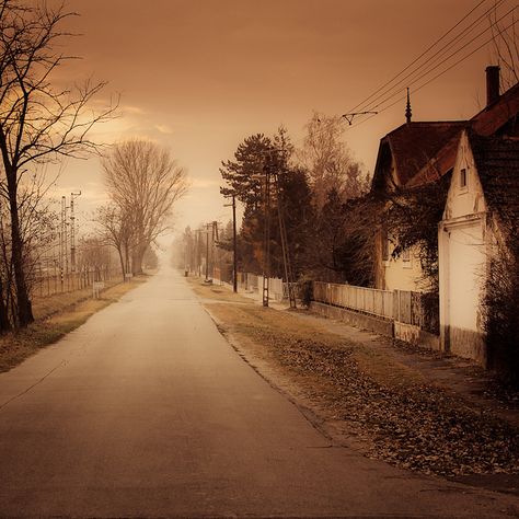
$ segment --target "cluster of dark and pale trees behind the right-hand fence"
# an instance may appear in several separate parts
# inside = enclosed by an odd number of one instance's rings
[[[314,113],[300,149],[281,127],[274,136],[245,138],[234,158],[222,162],[221,194],[243,204],[239,269],[263,272],[268,235],[270,275],[284,277],[282,219],[295,277],[364,286],[372,281],[369,245],[374,234],[373,229],[361,232],[369,222],[359,211],[369,174],[344,142],[343,123],[341,117]],[[274,177],[269,219],[265,218],[267,170]]]

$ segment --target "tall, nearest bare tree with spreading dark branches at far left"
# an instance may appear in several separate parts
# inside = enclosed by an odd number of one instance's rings
[[[88,111],[105,83],[86,81],[73,89],[53,85],[53,72],[71,58],[56,44],[69,36],[60,26],[72,15],[62,4],[51,8],[46,2],[0,0],[0,153],[9,201],[19,326],[33,321],[24,270],[21,178],[35,164],[64,155],[84,157],[84,152],[95,150],[89,131],[115,109]]]

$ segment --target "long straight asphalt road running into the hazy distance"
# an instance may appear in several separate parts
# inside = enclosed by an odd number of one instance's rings
[[[507,517],[336,447],[164,268],[0,374],[0,516]]]

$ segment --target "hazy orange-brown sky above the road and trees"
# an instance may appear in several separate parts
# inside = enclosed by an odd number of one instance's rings
[[[218,168],[243,138],[270,135],[282,124],[300,143],[312,111],[349,112],[477,3],[69,0],[68,8],[81,15],[67,28],[81,36],[67,39],[67,51],[82,59],[59,70],[57,80],[108,81],[105,94],[120,94],[122,116],[99,127],[96,138],[157,140],[187,169],[192,188],[178,205],[178,228],[224,222],[230,212],[219,195]],[[413,120],[459,119],[477,112],[489,62],[487,46],[412,92]],[[380,138],[404,122],[404,108],[402,101],[347,128],[348,146],[369,171]],[[57,194],[72,189],[82,191],[78,206],[86,218],[105,197],[96,159],[62,165]]]

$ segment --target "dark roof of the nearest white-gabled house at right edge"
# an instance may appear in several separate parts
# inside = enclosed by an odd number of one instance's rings
[[[519,139],[470,136],[485,199],[508,230],[519,227]]]

